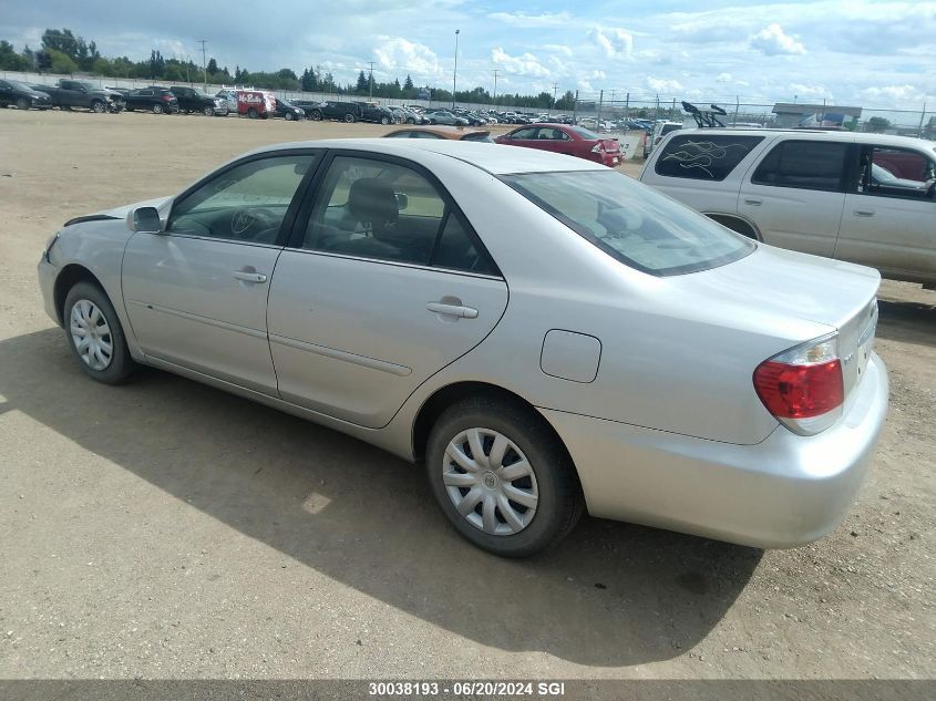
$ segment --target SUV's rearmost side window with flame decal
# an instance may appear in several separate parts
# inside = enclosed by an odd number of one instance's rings
[[[696,181],[723,181],[763,136],[679,134],[669,140],[657,159],[657,175]]]

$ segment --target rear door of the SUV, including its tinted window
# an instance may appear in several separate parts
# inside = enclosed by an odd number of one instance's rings
[[[738,213],[768,244],[831,258],[845,206],[850,146],[780,141],[741,182]]]

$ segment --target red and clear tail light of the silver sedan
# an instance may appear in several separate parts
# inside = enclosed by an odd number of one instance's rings
[[[763,361],[754,390],[780,423],[800,435],[815,435],[842,415],[845,386],[837,334],[824,336]]]

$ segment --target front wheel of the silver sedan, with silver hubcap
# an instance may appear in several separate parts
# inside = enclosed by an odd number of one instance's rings
[[[120,384],[138,368],[126,347],[117,312],[96,285],[78,282],[69,290],[62,321],[79,367],[93,380]]]

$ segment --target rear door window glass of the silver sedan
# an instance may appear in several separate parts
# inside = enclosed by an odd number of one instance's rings
[[[424,175],[351,156],[338,156],[329,166],[302,247],[475,272],[496,269]]]

